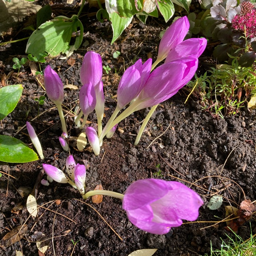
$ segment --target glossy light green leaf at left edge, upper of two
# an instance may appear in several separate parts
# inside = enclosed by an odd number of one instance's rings
[[[22,85],[9,85],[0,89],[0,120],[10,114],[22,95]]]

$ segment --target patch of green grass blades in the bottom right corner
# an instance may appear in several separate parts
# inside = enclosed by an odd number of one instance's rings
[[[229,242],[222,241],[220,250],[211,250],[211,256],[253,256],[256,255],[256,238],[251,238],[245,242],[240,236],[235,234],[236,238],[229,236]]]

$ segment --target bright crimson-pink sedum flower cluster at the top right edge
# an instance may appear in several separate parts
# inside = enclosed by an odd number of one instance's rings
[[[252,9],[243,15],[237,14],[232,19],[232,27],[235,30],[244,31],[246,28],[246,37],[253,38],[256,36],[256,10]]]

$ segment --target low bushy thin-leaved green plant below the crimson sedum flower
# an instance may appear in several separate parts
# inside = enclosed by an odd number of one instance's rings
[[[240,67],[237,58],[232,65],[217,65],[187,85],[202,109],[214,117],[236,115],[246,101],[256,95],[256,66]]]

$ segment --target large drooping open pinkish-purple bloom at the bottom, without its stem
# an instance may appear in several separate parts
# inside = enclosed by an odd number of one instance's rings
[[[195,221],[203,205],[200,196],[176,181],[138,180],[125,192],[123,209],[130,222],[153,234],[166,234],[182,219]]]

